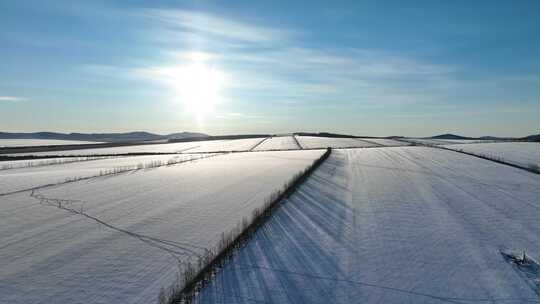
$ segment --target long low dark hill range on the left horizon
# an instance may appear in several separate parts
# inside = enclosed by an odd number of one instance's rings
[[[169,140],[208,137],[202,133],[181,132],[167,135],[153,134],[149,132],[127,132],[127,133],[56,133],[56,132],[35,132],[35,133],[8,133],[0,132],[0,139],[59,139],[59,140],[81,140],[96,142],[131,142],[149,140]]]

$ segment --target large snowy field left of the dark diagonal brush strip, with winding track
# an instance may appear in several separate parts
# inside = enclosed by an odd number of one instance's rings
[[[156,303],[181,262],[322,153],[232,153],[0,196],[0,303]]]

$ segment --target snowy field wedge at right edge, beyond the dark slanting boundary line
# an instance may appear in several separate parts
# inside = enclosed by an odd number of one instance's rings
[[[540,167],[540,143],[498,142],[451,145],[447,148],[500,159],[524,167],[529,167],[531,165]]]

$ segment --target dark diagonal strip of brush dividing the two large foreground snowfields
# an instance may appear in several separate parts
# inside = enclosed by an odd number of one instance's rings
[[[159,304],[191,303],[194,296],[206,286],[214,274],[251,239],[285,200],[295,193],[298,187],[328,159],[331,153],[332,149],[327,148],[326,152],[311,166],[286,183],[284,189],[272,194],[261,208],[253,210],[250,221],[243,218],[232,231],[222,233],[221,240],[215,249],[208,250],[207,254],[201,257],[195,265],[188,265],[189,267],[181,274],[179,281],[173,284],[169,290],[162,291],[158,299]]]

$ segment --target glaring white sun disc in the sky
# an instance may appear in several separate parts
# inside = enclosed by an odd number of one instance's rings
[[[172,76],[178,99],[197,118],[214,112],[215,105],[222,100],[225,77],[221,71],[204,61],[177,67]]]

